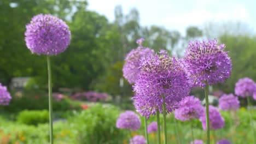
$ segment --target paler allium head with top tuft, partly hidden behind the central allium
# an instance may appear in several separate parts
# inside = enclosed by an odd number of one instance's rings
[[[154,50],[142,46],[143,41],[143,38],[138,39],[137,44],[139,44],[139,46],[137,47],[137,49],[131,50],[129,53],[127,53],[125,58],[123,74],[125,79],[130,84],[136,81],[137,76],[140,72],[139,66],[141,65],[141,58],[154,53]]]

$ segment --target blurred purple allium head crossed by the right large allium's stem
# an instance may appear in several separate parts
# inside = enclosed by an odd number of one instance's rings
[[[203,115],[200,117],[200,121],[202,122],[202,127],[206,130],[206,118],[205,118],[205,111]],[[219,110],[217,107],[212,105],[209,106],[209,120],[210,120],[210,129],[216,130],[221,129],[224,127],[224,118],[220,115]]]

